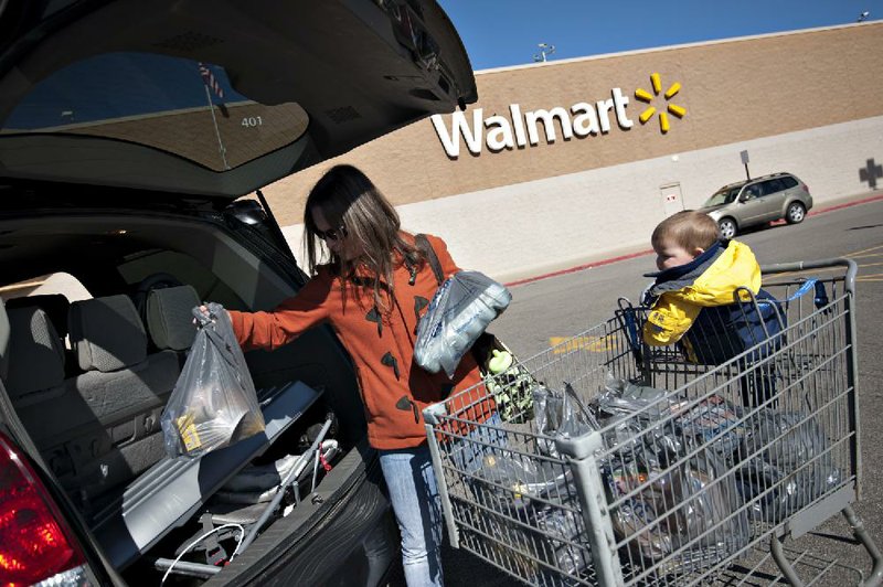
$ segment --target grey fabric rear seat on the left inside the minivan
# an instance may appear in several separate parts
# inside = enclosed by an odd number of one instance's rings
[[[180,373],[178,355],[147,355],[147,334],[128,297],[77,301],[68,325],[84,373],[58,382],[61,345],[45,342],[57,333],[39,309],[11,310],[11,321],[19,311],[33,318],[29,329],[18,318],[11,325],[10,394],[62,484],[88,511],[91,500],[163,457],[159,418]]]

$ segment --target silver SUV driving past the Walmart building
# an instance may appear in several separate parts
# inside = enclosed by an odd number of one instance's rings
[[[733,238],[749,226],[785,218],[802,222],[812,207],[809,188],[791,173],[773,173],[724,185],[700,209],[721,227],[721,237]]]

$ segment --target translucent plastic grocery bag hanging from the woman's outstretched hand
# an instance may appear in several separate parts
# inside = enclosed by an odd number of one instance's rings
[[[264,431],[264,415],[230,316],[209,303],[193,309],[199,330],[162,412],[166,452],[202,455]]]

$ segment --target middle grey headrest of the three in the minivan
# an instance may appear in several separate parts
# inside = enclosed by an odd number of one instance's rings
[[[107,373],[147,359],[145,327],[128,296],[75,301],[67,322],[83,371]]]

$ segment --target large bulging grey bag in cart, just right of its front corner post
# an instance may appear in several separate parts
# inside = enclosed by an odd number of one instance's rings
[[[727,412],[700,403],[684,413],[678,395],[610,375],[594,404],[605,445],[616,447],[602,467],[614,532],[627,542],[634,564],[684,572],[723,561],[748,543],[747,515],[727,462],[713,442],[703,448],[684,434],[726,430],[730,420],[720,416]]]

